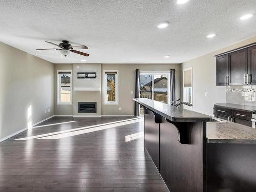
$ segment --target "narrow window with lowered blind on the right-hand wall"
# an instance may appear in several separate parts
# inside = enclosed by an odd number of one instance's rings
[[[183,70],[183,101],[192,104],[192,68]]]

